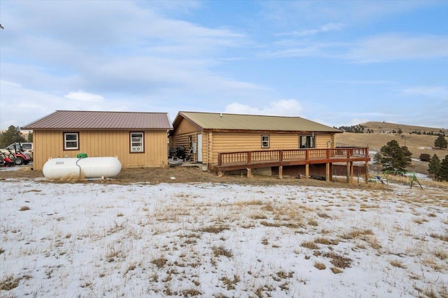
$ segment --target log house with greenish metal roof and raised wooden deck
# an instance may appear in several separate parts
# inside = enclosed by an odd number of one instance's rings
[[[367,168],[368,148],[337,148],[339,133],[300,117],[179,112],[170,146],[185,147],[193,161],[218,173],[247,170],[248,176],[252,171],[282,176],[284,171],[330,180],[332,164],[346,162],[351,180],[353,162],[365,162]]]

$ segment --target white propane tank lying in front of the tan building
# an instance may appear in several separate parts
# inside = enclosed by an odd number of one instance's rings
[[[117,176],[121,171],[118,157],[50,158],[43,165],[48,179],[102,178]]]

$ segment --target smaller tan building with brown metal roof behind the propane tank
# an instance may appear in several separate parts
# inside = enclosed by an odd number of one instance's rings
[[[124,168],[165,166],[167,113],[55,111],[25,125],[33,131],[34,169],[50,157],[118,157]]]

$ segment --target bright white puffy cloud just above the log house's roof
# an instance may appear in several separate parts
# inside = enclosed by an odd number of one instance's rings
[[[251,107],[246,104],[234,102],[225,106],[225,113],[251,114],[251,115],[276,115],[299,116],[302,113],[302,105],[295,99],[281,99],[271,101],[269,106],[262,108]]]

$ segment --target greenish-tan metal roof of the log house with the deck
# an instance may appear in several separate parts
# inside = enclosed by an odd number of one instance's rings
[[[174,120],[173,126],[177,127],[182,118],[193,122],[193,124],[202,129],[276,132],[342,132],[339,129],[328,127],[300,117],[199,112],[179,112]]]

